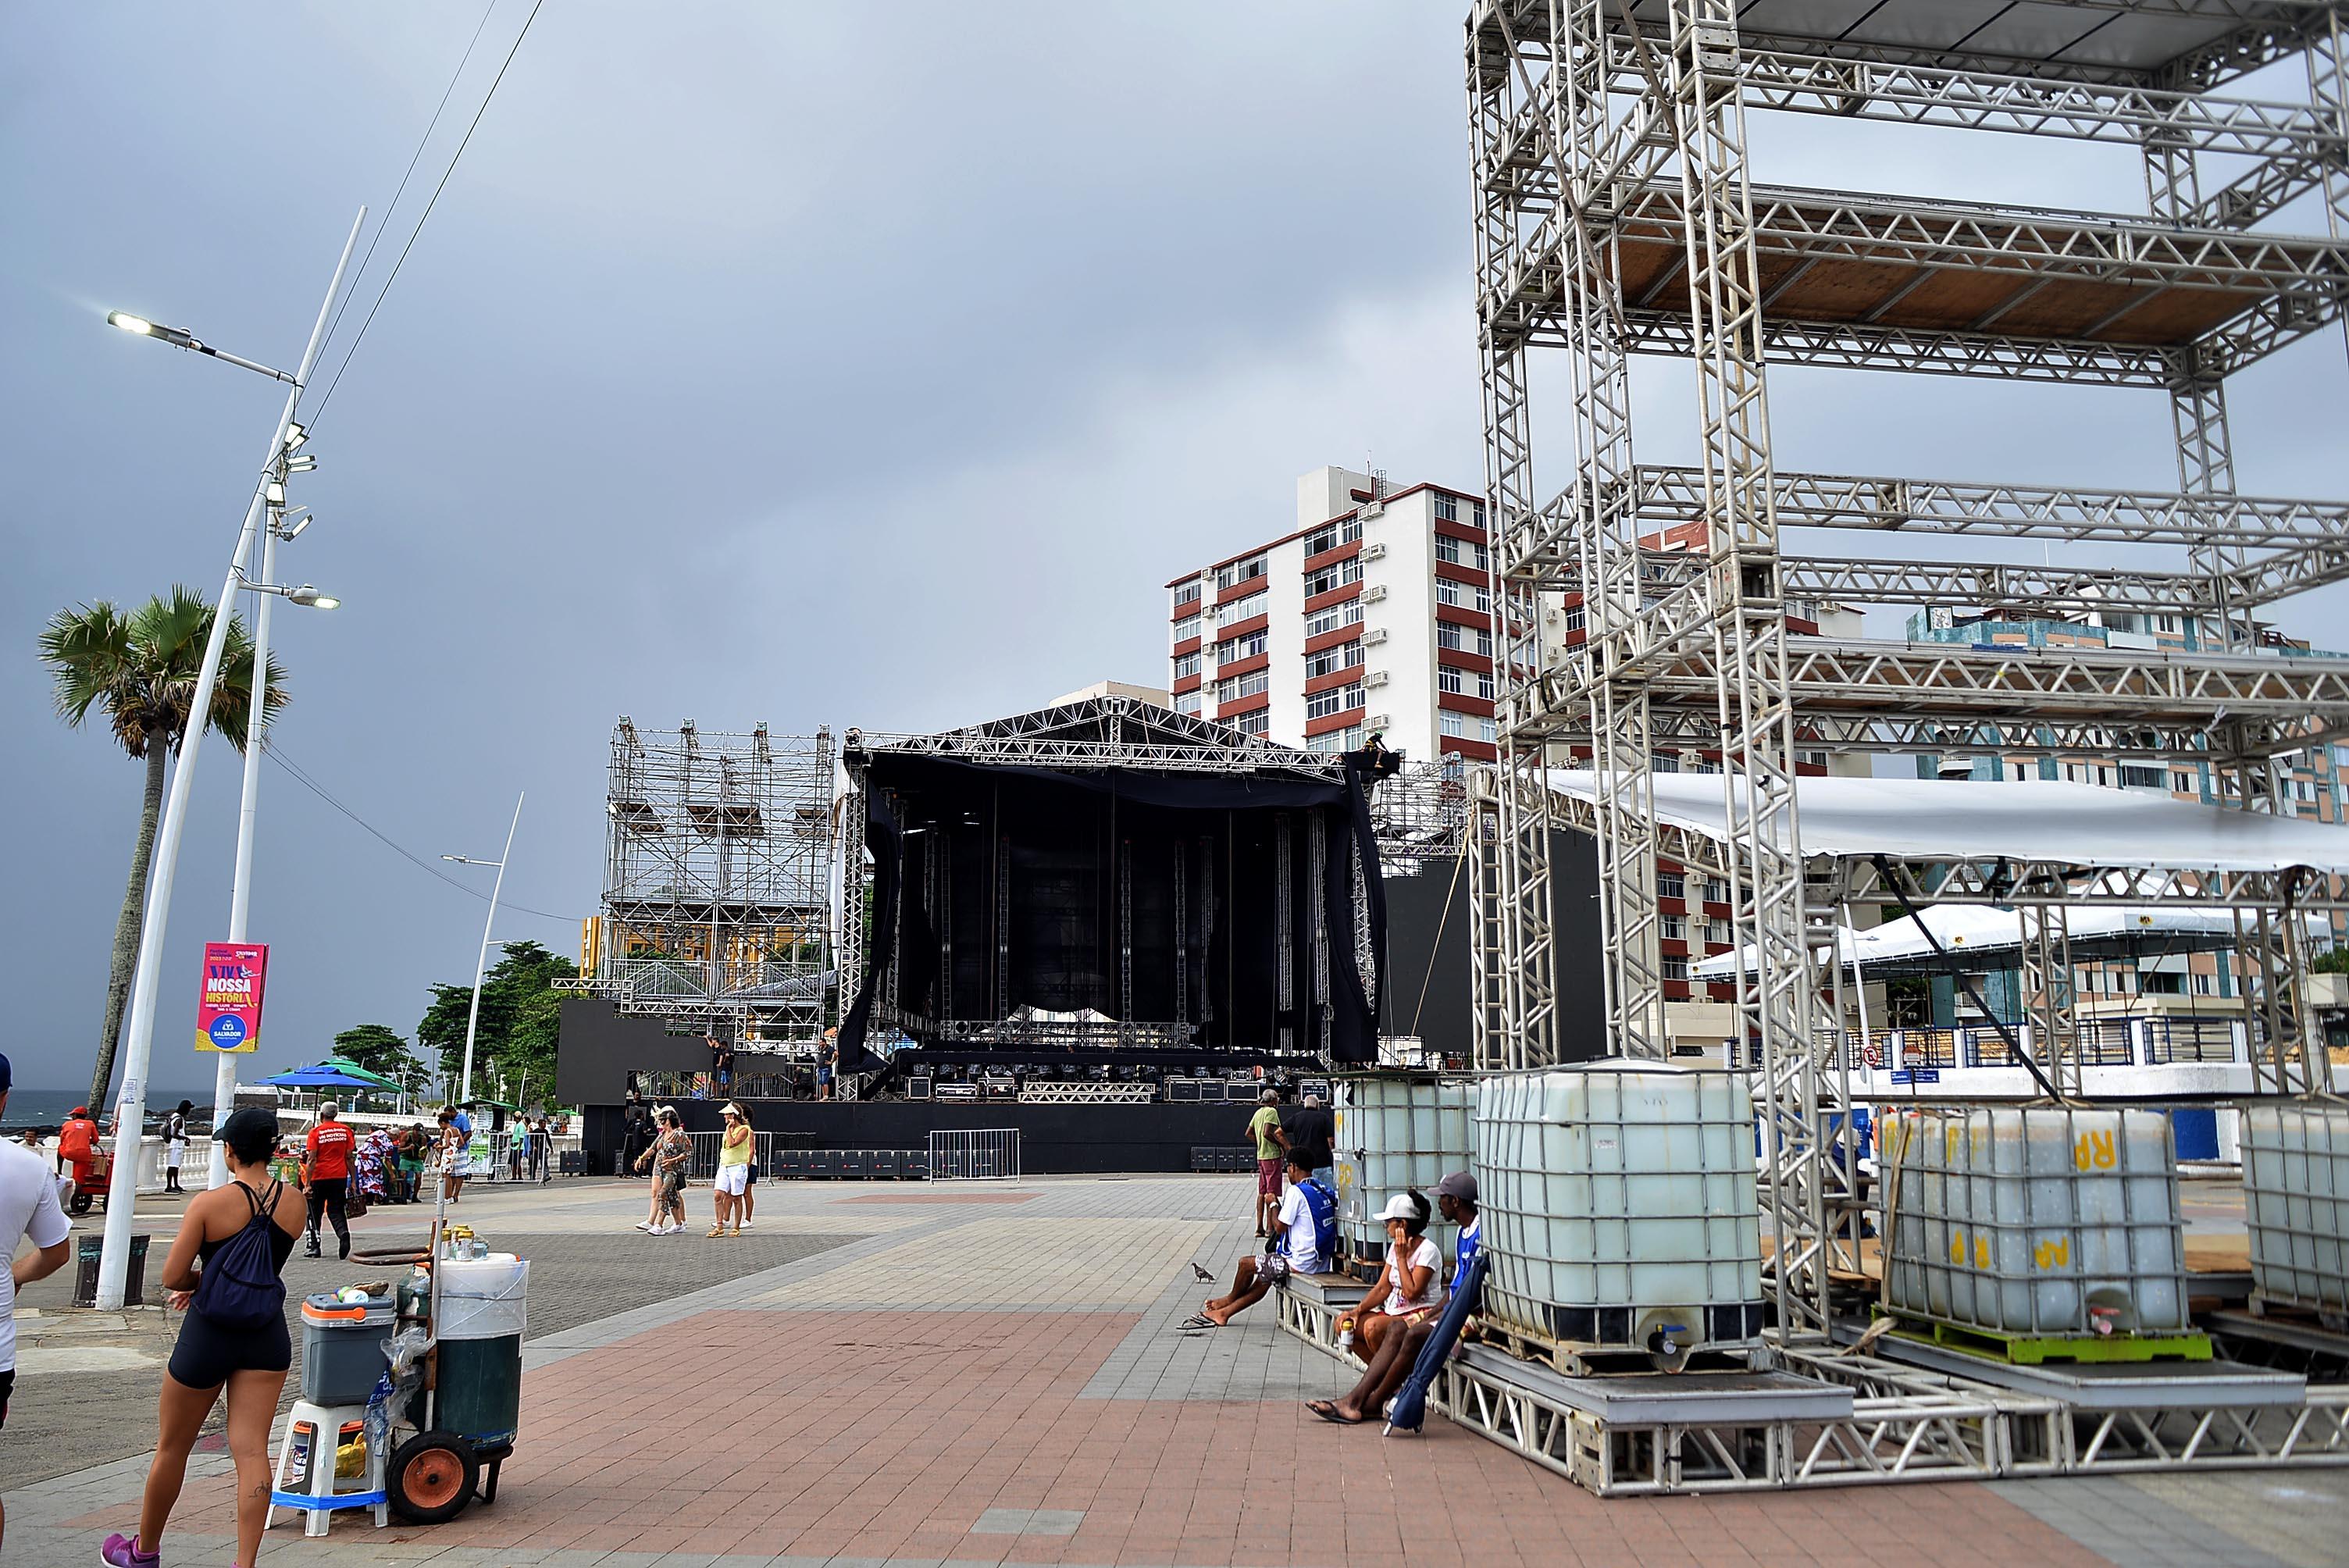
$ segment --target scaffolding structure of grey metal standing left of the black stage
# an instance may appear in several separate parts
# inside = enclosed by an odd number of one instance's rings
[[[832,732],[611,735],[604,908],[578,991],[745,1052],[813,1042],[832,967]]]

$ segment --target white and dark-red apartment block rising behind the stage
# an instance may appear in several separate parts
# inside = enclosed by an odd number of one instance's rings
[[[1297,528],[1167,582],[1174,709],[1250,735],[1414,761],[1492,761],[1485,502],[1320,467]]]

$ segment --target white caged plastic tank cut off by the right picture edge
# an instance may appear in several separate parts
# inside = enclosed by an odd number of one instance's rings
[[[2262,1305],[2349,1314],[2349,1110],[2246,1106],[2243,1211]]]

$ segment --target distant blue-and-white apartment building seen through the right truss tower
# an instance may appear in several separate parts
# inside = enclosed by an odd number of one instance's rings
[[[1907,620],[1912,643],[1966,643],[2011,648],[2138,648],[2138,650],[2199,650],[2213,646],[2215,627],[2196,622],[2192,615],[2133,615],[2091,613],[2079,620],[2051,620],[2027,610],[1999,608],[1947,608],[1919,610]],[[2288,653],[2297,657],[2342,657],[2321,648],[2281,636],[2274,627],[2239,627],[2243,650]],[[2067,784],[2095,784],[2100,789],[2126,789],[2173,800],[2220,803],[2217,777],[2210,763],[2199,758],[2170,761],[2121,761],[2109,753],[2060,751],[2055,756],[1973,756],[1973,758],[1917,758],[1917,775],[1926,779],[2062,779]],[[2304,751],[2276,758],[2276,791],[2281,803],[2309,822],[2349,822],[2349,746],[2311,744]],[[2333,920],[2335,941],[2349,937],[2340,918]],[[1992,1007],[2020,1007],[2004,995],[2020,986],[2013,974],[1992,974],[1985,1000]],[[1999,981],[2006,981],[2004,991]],[[2241,1007],[2241,976],[2225,953],[2154,953],[2133,962],[2081,965],[2074,976],[2079,1009],[2084,1016],[2131,1014],[2131,1012],[2232,1012]],[[2168,998],[2180,998],[2168,1002]],[[2201,998],[2196,1002],[2194,998]],[[1936,993],[1936,1016],[1947,1016],[1952,1002]]]

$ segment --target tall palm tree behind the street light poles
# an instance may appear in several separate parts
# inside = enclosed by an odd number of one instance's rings
[[[211,606],[188,587],[174,587],[169,599],[148,599],[127,615],[103,599],[59,610],[40,634],[40,662],[49,667],[59,718],[80,728],[89,711],[99,709],[122,751],[132,761],[146,763],[139,843],[132,850],[129,887],[122,890],[122,915],[115,920],[115,962],[106,974],[106,1023],[99,1033],[99,1061],[89,1073],[92,1106],[106,1103],[115,1077],[122,1005],[132,991],[139,927],[146,920],[148,861],[155,859],[164,753],[179,751],[188,742],[188,709],[195,704],[195,678],[204,667],[209,636]],[[284,669],[270,660],[263,723],[275,718],[284,704]],[[226,735],[228,744],[244,751],[244,723],[251,711],[254,638],[247,634],[244,620],[230,615],[207,723]]]

